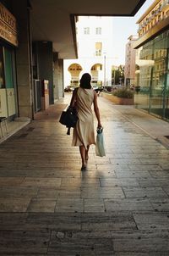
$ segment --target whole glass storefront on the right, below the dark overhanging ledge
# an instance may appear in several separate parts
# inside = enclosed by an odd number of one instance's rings
[[[139,109],[168,120],[169,97],[169,31],[156,36],[139,48],[139,72],[135,80],[139,86],[136,104]]]

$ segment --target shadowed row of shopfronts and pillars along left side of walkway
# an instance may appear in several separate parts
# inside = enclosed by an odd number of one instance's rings
[[[32,38],[27,0],[0,2],[0,117],[34,119],[63,97],[63,60],[52,42]],[[9,129],[10,130],[10,129]]]

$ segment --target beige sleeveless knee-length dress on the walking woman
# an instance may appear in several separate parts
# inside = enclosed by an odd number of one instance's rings
[[[76,98],[79,120],[74,127],[72,146],[84,145],[87,149],[88,145],[95,144],[94,118],[91,109],[94,91],[79,87]]]

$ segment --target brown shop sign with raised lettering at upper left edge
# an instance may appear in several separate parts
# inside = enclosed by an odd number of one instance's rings
[[[0,3],[0,37],[18,46],[16,19],[2,3]]]

